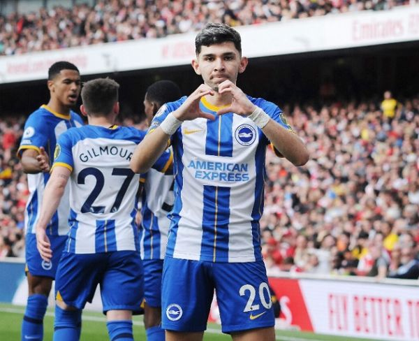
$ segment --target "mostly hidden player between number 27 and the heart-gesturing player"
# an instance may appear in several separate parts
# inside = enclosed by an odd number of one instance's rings
[[[181,96],[179,87],[170,80],[159,80],[147,88],[144,99],[148,124],[164,103]],[[164,107],[163,107],[164,109]],[[172,159],[172,149],[163,155]],[[144,268],[144,325],[148,341],[165,340],[161,328],[161,275],[166,253],[173,208],[173,174],[150,169],[142,189],[141,258]]]

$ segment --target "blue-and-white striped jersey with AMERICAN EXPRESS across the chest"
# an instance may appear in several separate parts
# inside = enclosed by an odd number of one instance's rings
[[[248,96],[274,121],[292,131],[274,103]],[[184,103],[167,103],[149,133]],[[200,109],[219,109],[201,99]],[[265,152],[270,141],[247,117],[227,113],[214,121],[185,121],[171,136],[175,206],[166,256],[220,262],[262,259],[259,219],[263,212]]]

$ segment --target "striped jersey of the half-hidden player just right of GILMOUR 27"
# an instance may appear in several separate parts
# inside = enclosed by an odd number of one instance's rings
[[[172,149],[166,150],[162,157],[172,163]],[[161,173],[150,169],[145,174],[141,205],[142,259],[164,259],[168,242],[170,219],[168,214],[173,208],[173,173]]]

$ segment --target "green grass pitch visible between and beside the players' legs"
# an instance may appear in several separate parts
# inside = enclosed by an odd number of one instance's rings
[[[19,341],[20,324],[24,313],[24,307],[0,303],[0,340]],[[44,320],[44,341],[52,341],[52,324],[54,322],[53,310],[48,310]],[[299,331],[277,331],[279,341],[367,341],[367,339],[341,338],[330,335],[319,335],[313,333],[302,333]],[[142,317],[134,317],[134,338],[145,340],[145,330],[142,324]],[[103,341],[108,339],[106,321],[103,314],[98,312],[84,311],[82,316],[81,341]],[[209,324],[204,335],[205,341],[226,341],[231,340],[230,336],[222,334],[220,326]]]

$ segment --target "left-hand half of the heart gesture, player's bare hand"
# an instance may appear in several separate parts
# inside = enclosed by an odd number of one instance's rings
[[[180,121],[189,121],[198,117],[204,117],[214,121],[214,115],[204,113],[199,108],[200,99],[206,95],[214,95],[214,90],[208,85],[201,84],[194,92],[192,92],[192,94],[189,95],[186,101],[182,103],[182,106],[179,106],[179,108],[173,112],[173,116]]]

